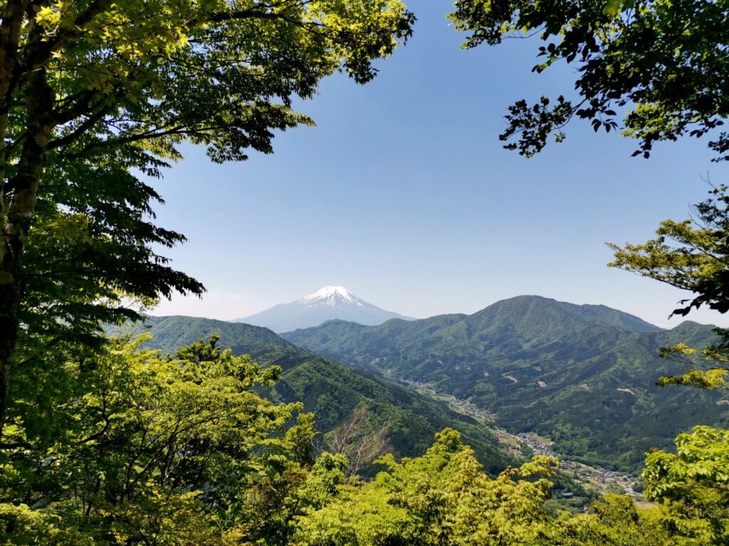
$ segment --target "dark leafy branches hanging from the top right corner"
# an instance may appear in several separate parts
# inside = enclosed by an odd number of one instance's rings
[[[729,114],[728,15],[725,0],[456,0],[451,19],[469,33],[464,47],[537,35],[544,45],[533,71],[574,65],[577,98],[515,102],[504,148],[530,157],[550,135],[562,141],[577,116],[595,131],[622,128],[640,141],[634,155],[648,157],[655,142],[701,137]],[[729,159],[729,133],[709,147],[716,161]]]

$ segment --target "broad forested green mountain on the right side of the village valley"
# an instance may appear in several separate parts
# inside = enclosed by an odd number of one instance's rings
[[[661,389],[678,373],[658,349],[712,342],[711,327],[671,331],[605,306],[520,296],[472,315],[365,327],[332,321],[283,334],[321,355],[434,384],[498,415],[511,432],[553,438],[574,459],[634,470],[645,451],[669,448],[694,424],[726,422],[722,392]]]

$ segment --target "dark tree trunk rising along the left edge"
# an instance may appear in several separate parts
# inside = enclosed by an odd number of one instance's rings
[[[36,207],[48,139],[52,130],[53,93],[42,66],[34,67],[26,86],[28,132],[9,181],[12,200],[0,240],[0,441],[9,405],[12,357],[20,329],[23,301],[23,253]]]

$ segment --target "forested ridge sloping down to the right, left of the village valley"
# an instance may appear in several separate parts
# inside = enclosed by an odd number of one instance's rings
[[[356,371],[295,347],[268,328],[195,317],[149,317],[143,325],[109,328],[107,333],[152,334],[149,349],[174,352],[212,334],[221,347],[252,355],[262,365],[280,365],[283,378],[270,396],[285,402],[302,401],[316,412],[317,426],[328,432],[345,421],[357,405],[367,406],[378,424],[391,424],[391,445],[399,456],[417,456],[432,444],[435,432],[453,427],[477,452],[486,469],[495,472],[510,462],[494,435],[470,417],[451,411],[404,387]]]

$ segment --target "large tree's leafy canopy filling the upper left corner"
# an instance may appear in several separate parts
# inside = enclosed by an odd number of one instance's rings
[[[26,102],[37,92],[28,74],[40,67],[49,127],[27,211],[22,322],[77,335],[139,317],[130,296],[202,292],[152,250],[184,242],[155,226],[162,199],[144,181],[181,159],[182,141],[216,162],[270,153],[274,130],[313,123],[292,98],[313,97],[335,71],[369,81],[372,61],[413,21],[397,0],[63,0],[30,13],[9,90],[0,210],[20,198],[23,142],[34,138]]]

